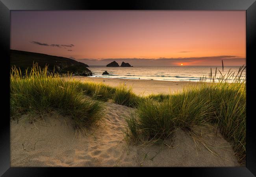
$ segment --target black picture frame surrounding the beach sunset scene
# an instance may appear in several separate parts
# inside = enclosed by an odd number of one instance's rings
[[[189,176],[243,176],[256,175],[256,132],[254,126],[254,105],[256,86],[254,85],[255,50],[256,50],[256,2],[255,0],[0,0],[0,56],[2,67],[1,125],[0,133],[0,175],[2,176],[53,176],[54,173],[73,176],[79,173],[89,175],[93,172],[106,173],[113,168],[10,168],[10,121],[9,121],[9,50],[10,50],[10,11],[11,10],[246,10],[246,63],[247,63],[247,158],[246,167],[238,168],[131,168],[153,173]],[[0,65],[1,66],[1,65]],[[7,67],[8,66],[8,67]],[[130,168],[115,168],[119,173],[134,175]],[[145,173],[144,173],[145,174]],[[159,174],[159,173],[158,173]],[[121,175],[119,173],[119,175]]]

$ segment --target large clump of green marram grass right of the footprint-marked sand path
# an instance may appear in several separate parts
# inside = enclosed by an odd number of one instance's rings
[[[172,137],[175,129],[190,131],[194,125],[213,123],[242,162],[246,155],[246,80],[241,77],[244,69],[242,66],[237,73],[221,73],[219,78],[210,73],[210,78],[203,77],[198,85],[189,85],[180,93],[148,96],[126,118],[126,135],[135,142],[164,140]],[[210,83],[205,82],[207,79]]]

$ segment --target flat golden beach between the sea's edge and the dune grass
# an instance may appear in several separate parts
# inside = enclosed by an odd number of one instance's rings
[[[116,87],[120,83],[126,83],[128,87],[132,87],[135,94],[158,94],[158,93],[174,93],[182,91],[187,85],[188,81],[158,81],[158,80],[146,80],[146,79],[114,79],[114,78],[101,78],[101,77],[83,77],[72,76],[73,79],[81,81],[92,81],[95,83],[104,83],[106,85]],[[104,81],[104,82],[103,82]],[[190,82],[192,85],[197,82]]]

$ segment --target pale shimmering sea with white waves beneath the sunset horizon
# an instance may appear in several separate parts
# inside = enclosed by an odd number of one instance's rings
[[[134,67],[106,67],[106,66],[90,66],[89,70],[93,72],[93,76],[89,77],[105,77],[119,79],[153,79],[166,81],[199,81],[200,77],[208,77],[211,72],[215,74],[216,67],[212,66],[134,66]],[[216,76],[235,72],[235,76],[239,70],[239,66],[226,66],[222,71],[222,66],[217,67]],[[109,75],[102,75],[107,71]],[[245,77],[246,69],[242,73]],[[210,80],[208,80],[210,81]],[[232,78],[230,79],[232,82]]]

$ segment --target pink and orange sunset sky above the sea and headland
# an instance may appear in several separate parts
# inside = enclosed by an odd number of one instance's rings
[[[246,11],[11,11],[11,49],[88,65],[243,65]]]

